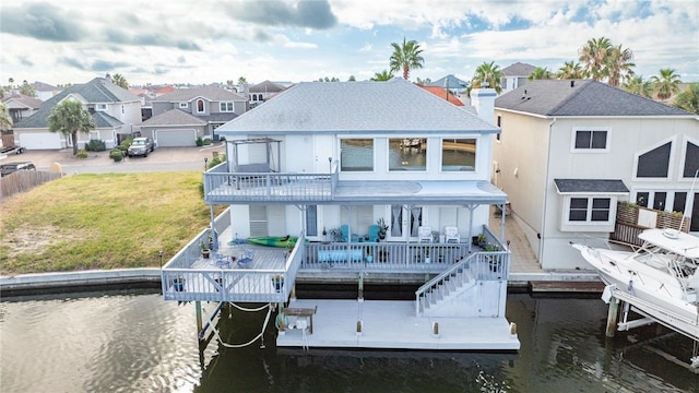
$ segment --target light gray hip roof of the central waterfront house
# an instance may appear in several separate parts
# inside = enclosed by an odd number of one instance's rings
[[[402,79],[303,82],[217,132],[487,132],[499,129]]]

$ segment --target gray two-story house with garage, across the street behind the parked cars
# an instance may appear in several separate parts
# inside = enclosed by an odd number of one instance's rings
[[[141,134],[158,146],[194,146],[197,139],[218,140],[216,128],[248,110],[248,100],[215,86],[179,88],[153,98],[153,117]]]

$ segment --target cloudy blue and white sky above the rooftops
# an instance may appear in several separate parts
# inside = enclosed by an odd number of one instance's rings
[[[699,81],[696,0],[14,0],[0,17],[0,84],[367,80],[404,37],[424,49],[411,80],[470,80],[485,61],[555,71],[601,36],[637,74]]]

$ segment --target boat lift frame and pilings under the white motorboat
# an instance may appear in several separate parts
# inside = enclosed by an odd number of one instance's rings
[[[692,321],[619,290],[615,284],[604,287],[602,300],[609,305],[606,327],[607,337],[614,337],[615,330],[624,332],[635,327],[647,326],[651,323],[660,323],[694,341],[692,356],[689,361],[692,368],[699,368],[699,321]],[[624,302],[623,321],[617,323],[619,302]],[[643,318],[629,321],[629,311],[635,311],[643,315]]]

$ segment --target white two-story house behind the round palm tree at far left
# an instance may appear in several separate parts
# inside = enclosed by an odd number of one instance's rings
[[[104,141],[107,148],[131,135],[141,122],[141,100],[109,79],[95,78],[72,85],[42,104],[39,110],[13,126],[15,143],[26,150],[60,150],[69,147],[70,138],[48,130],[48,118],[56,105],[64,99],[76,100],[92,114],[96,128],[78,134],[78,147],[91,140]]]

